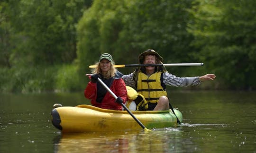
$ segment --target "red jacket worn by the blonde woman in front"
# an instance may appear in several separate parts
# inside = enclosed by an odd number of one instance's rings
[[[117,97],[121,97],[123,99],[123,103],[127,101],[126,85],[122,78],[115,78],[110,86],[110,90],[115,93]],[[122,105],[115,102],[115,98],[109,92],[106,93],[101,103],[96,102],[97,83],[92,83],[90,81],[84,90],[84,96],[91,99],[91,104],[93,106],[110,110],[122,110]]]

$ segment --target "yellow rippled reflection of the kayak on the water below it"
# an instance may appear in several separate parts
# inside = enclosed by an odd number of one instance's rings
[[[55,152],[150,153],[152,151],[161,153],[181,151],[182,133],[183,131],[179,128],[165,128],[154,129],[151,132],[63,134],[55,138]]]

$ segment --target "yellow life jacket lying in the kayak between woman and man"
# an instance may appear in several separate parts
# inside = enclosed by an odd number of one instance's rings
[[[148,109],[147,102],[142,94],[137,93],[137,91],[130,86],[126,86],[126,89],[127,89],[127,96],[128,96],[128,101],[126,103],[126,106],[128,108],[131,102],[134,101],[136,103],[136,110]]]

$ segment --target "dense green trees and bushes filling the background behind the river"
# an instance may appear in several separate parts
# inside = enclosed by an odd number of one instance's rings
[[[146,49],[164,63],[204,63],[167,68],[176,76],[216,74],[193,89],[253,90],[255,8],[255,0],[1,0],[0,92],[81,91],[101,53],[136,64]]]

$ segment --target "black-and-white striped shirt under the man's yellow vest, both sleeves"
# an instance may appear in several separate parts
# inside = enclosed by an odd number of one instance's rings
[[[133,80],[133,73],[130,73],[128,75],[123,75],[122,78],[127,86],[130,86],[134,89],[137,88],[136,82]],[[192,85],[200,85],[201,84],[201,81],[199,80],[199,76],[177,77],[168,72],[163,73],[163,82],[165,85],[176,86],[176,87],[192,86]]]

